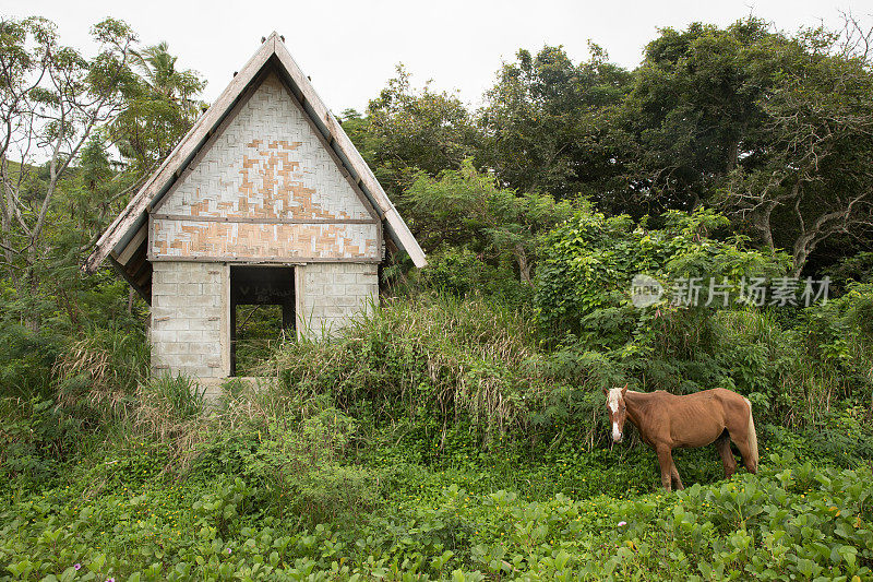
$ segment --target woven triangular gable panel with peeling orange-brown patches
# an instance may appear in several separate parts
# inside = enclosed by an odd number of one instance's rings
[[[150,258],[381,259],[381,224],[303,116],[267,76],[153,210]]]

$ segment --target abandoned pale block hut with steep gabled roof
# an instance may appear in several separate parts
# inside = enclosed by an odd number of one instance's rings
[[[273,33],[98,240],[151,305],[152,369],[236,375],[237,308],[280,306],[298,337],[379,301],[379,264],[424,254]]]

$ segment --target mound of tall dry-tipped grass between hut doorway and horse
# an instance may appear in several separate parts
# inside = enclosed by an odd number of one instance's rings
[[[526,426],[554,393],[533,313],[473,296],[388,299],[331,341],[289,343],[271,367],[286,390],[331,394],[379,421],[467,421],[485,442]]]

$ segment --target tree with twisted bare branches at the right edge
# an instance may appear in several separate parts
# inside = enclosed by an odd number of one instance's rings
[[[794,274],[824,241],[873,234],[873,28],[804,31],[780,43],[778,80],[758,98],[761,146],[736,164],[720,203]]]

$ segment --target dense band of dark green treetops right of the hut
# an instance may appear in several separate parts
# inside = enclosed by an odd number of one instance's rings
[[[636,218],[718,209],[799,275],[871,240],[871,39],[851,17],[793,34],[748,17],[663,28],[633,71],[595,44],[578,64],[560,46],[522,49],[477,110],[415,94],[399,68],[347,126],[400,200],[419,192],[406,190],[418,170],[469,157],[517,197],[584,197]]]

